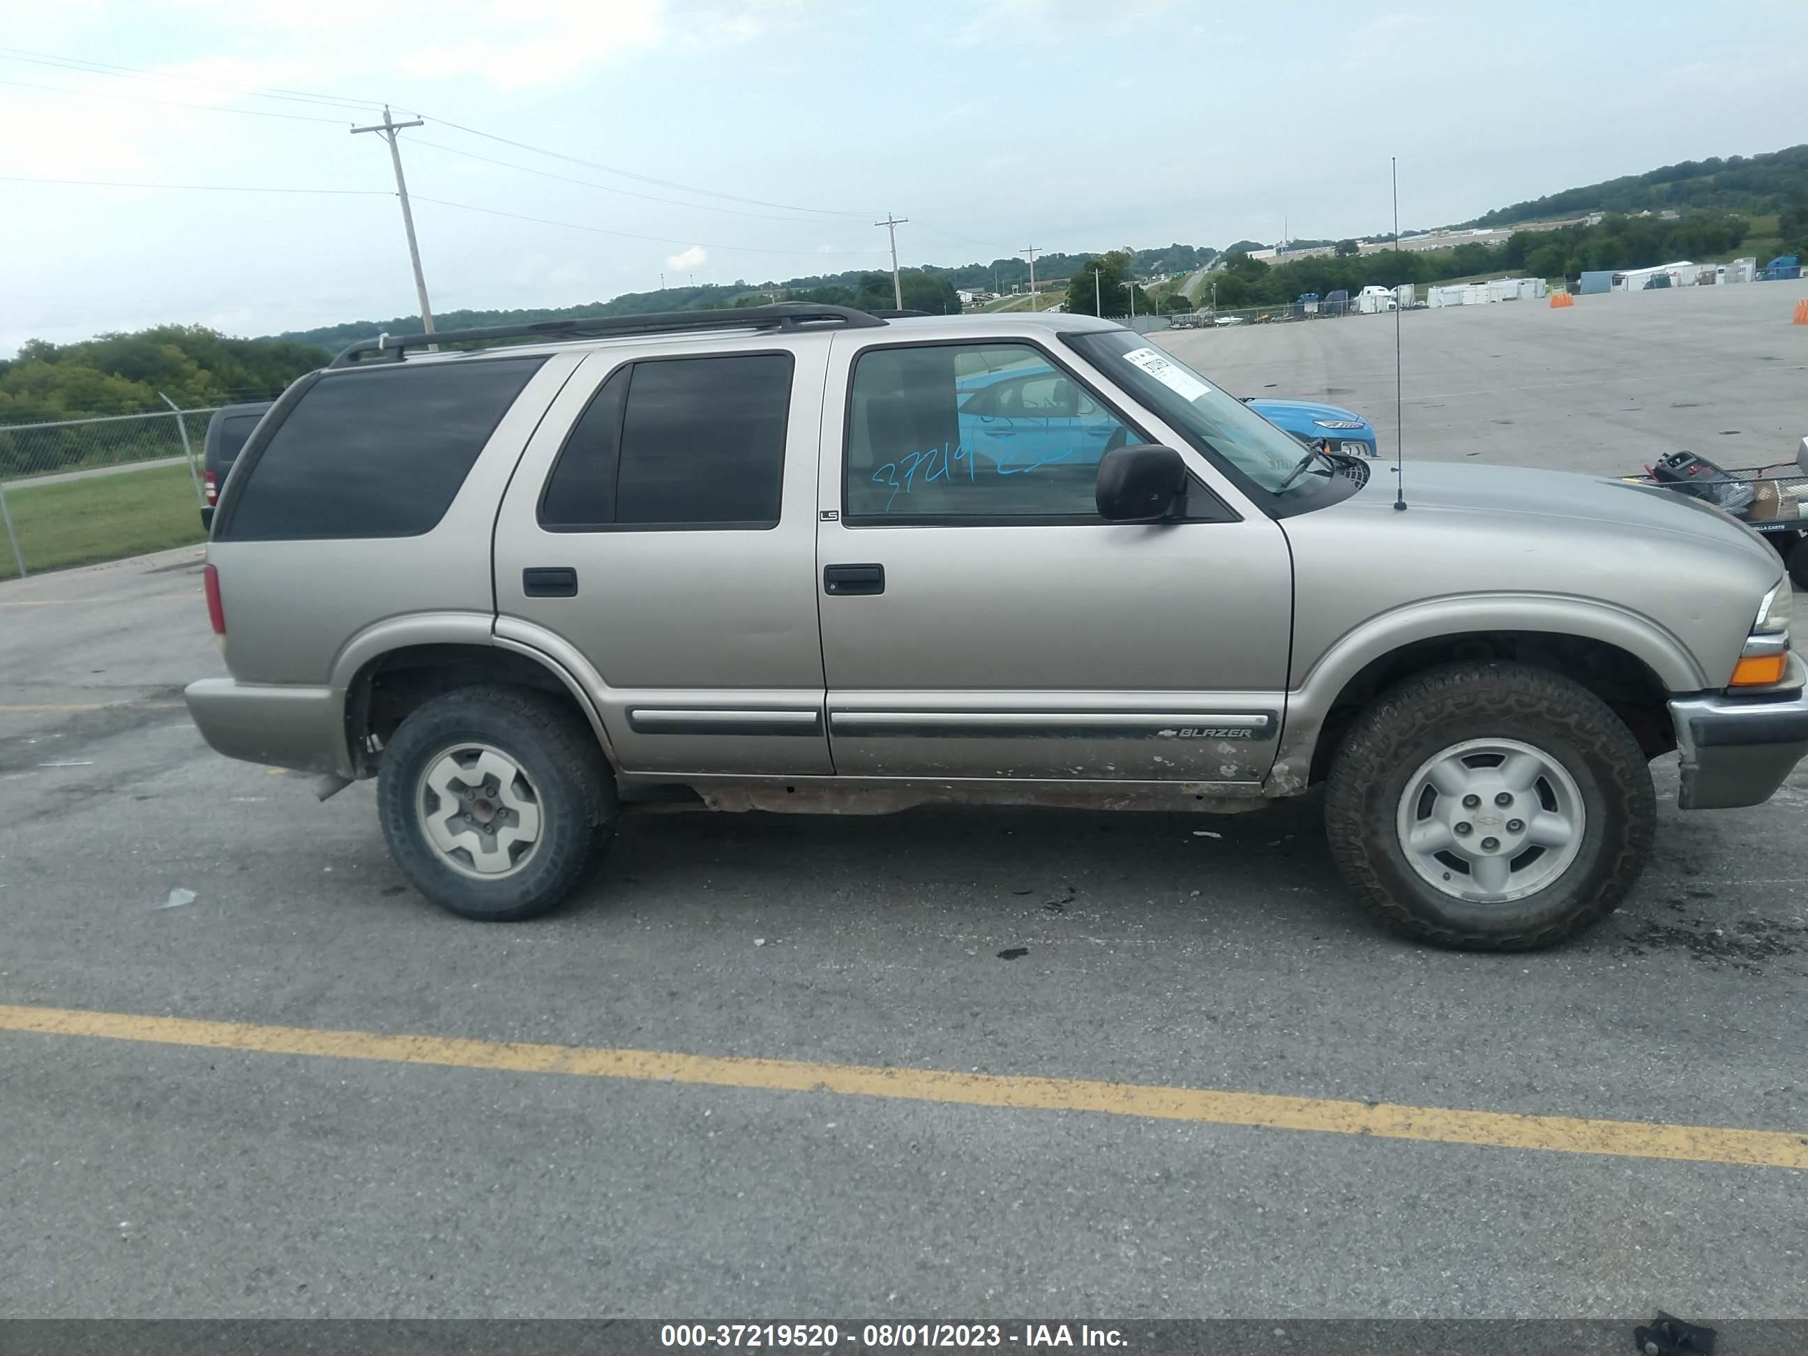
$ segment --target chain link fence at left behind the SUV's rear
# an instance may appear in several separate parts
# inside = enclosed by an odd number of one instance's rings
[[[213,409],[0,423],[0,579],[188,546]]]

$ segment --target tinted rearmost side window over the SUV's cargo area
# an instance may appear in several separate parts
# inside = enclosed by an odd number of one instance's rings
[[[329,372],[239,486],[228,541],[430,532],[544,358]]]

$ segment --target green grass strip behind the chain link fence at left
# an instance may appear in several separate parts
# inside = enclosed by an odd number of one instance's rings
[[[61,485],[13,483],[5,503],[25,568],[34,575],[190,546],[206,537],[188,466],[128,470]],[[0,541],[0,579],[14,575],[13,548]]]

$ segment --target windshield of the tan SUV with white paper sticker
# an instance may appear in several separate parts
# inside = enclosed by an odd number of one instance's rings
[[[1063,338],[1195,447],[1219,452],[1269,494],[1287,485],[1300,465],[1300,441],[1293,434],[1284,434],[1141,334],[1097,329]],[[1295,477],[1293,483],[1302,481]]]

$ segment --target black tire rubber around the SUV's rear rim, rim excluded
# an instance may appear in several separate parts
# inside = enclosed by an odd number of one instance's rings
[[[428,844],[416,801],[428,759],[470,739],[515,763],[539,797],[541,833],[515,873],[479,880]],[[463,687],[416,709],[383,752],[376,783],[389,852],[439,908],[479,922],[519,922],[557,908],[613,841],[620,801],[597,736],[570,707],[526,687]]]

